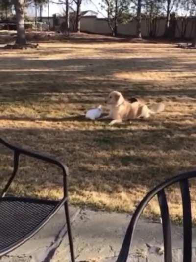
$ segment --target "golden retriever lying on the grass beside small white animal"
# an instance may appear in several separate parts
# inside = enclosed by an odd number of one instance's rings
[[[109,115],[103,118],[113,119],[109,124],[113,125],[137,118],[149,118],[150,115],[160,113],[165,109],[163,103],[152,104],[149,107],[140,99],[132,98],[131,102],[124,99],[118,91],[112,91],[106,101],[109,107]]]

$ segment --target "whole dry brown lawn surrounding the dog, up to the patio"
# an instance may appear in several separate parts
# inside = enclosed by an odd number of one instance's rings
[[[159,182],[196,166],[196,51],[83,40],[1,51],[0,136],[66,162],[72,203],[132,212]],[[78,117],[114,89],[164,101],[166,111],[113,127]],[[5,183],[11,158],[1,160]],[[24,159],[12,191],[58,198],[61,176]],[[195,181],[191,191],[196,219]],[[177,186],[168,197],[173,220],[180,220]],[[159,215],[156,200],[146,215]]]

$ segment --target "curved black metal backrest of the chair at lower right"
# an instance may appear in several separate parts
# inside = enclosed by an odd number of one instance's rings
[[[167,197],[165,189],[175,183],[180,184],[183,209],[183,262],[192,261],[192,216],[191,216],[191,199],[189,192],[189,178],[196,177],[196,171],[183,173],[161,183],[150,191],[140,202],[134,212],[131,222],[127,228],[123,245],[121,247],[117,262],[126,262],[129,249],[133,240],[133,234],[140,215],[149,203],[149,201],[157,195],[162,217],[163,241],[164,241],[164,261],[172,262],[172,237],[171,223],[169,217]]]

